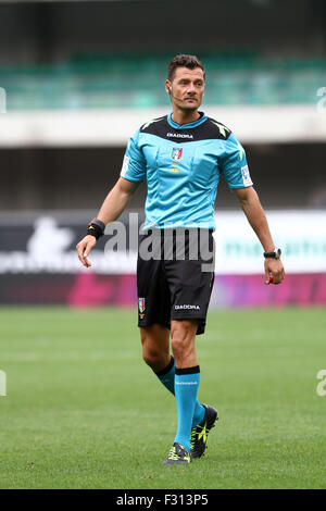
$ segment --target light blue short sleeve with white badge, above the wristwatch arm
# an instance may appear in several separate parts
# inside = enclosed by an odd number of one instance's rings
[[[229,188],[247,188],[253,185],[244,149],[234,134],[230,134],[226,140],[225,152],[221,157],[220,167]]]

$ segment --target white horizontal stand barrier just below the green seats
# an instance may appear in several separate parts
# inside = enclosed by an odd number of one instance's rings
[[[244,144],[326,141],[325,112],[311,104],[203,105]],[[0,147],[121,147],[145,122],[166,108],[0,114]]]

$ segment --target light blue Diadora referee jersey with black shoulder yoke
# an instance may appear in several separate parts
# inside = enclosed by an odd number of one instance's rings
[[[179,125],[170,115],[143,124],[129,139],[121,176],[147,180],[150,227],[215,228],[214,202],[221,174],[230,188],[252,186],[246,153],[223,124],[200,113]]]

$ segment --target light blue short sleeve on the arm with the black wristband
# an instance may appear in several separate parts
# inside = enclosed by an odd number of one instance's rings
[[[128,140],[127,149],[121,170],[121,177],[128,180],[141,182],[146,179],[146,160],[138,146],[139,129]]]

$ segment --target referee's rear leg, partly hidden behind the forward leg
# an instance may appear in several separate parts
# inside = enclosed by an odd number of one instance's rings
[[[175,396],[175,361],[170,354],[170,329],[159,324],[140,327],[140,338],[145,362]],[[204,407],[196,400],[191,427],[201,423],[204,413]]]

